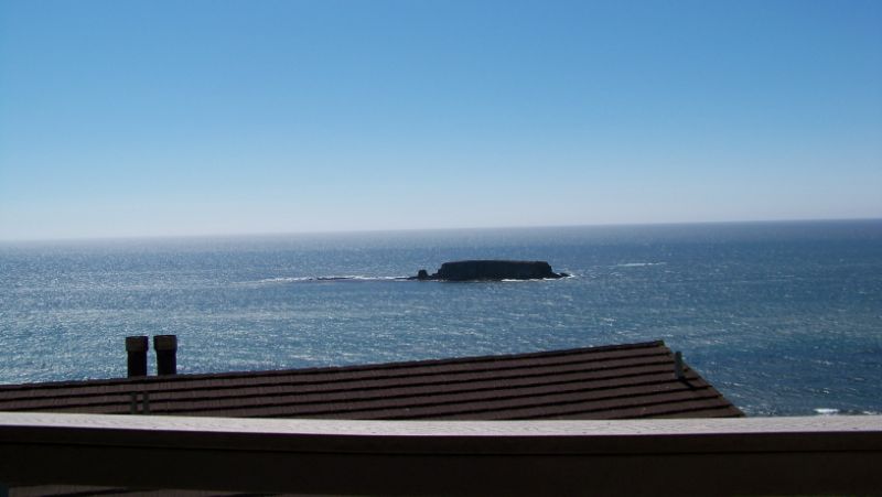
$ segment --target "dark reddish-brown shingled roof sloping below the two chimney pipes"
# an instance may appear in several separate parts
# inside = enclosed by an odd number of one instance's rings
[[[720,418],[743,413],[664,342],[366,366],[0,386],[0,411],[337,419]]]

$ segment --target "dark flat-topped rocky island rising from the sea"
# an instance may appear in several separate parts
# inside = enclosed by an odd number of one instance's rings
[[[557,273],[545,261],[526,260],[461,260],[444,262],[434,274],[420,269],[412,280],[440,281],[499,281],[499,280],[545,280],[566,278],[566,272]]]

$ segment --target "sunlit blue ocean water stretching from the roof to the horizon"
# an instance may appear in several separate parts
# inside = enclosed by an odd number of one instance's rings
[[[574,277],[394,279],[480,258]],[[181,372],[664,339],[747,414],[879,413],[882,220],[0,245],[0,382],[125,376],[157,334]]]

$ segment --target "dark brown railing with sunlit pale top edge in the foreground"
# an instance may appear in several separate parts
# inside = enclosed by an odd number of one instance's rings
[[[326,421],[0,413],[0,482],[305,494],[878,494],[882,417]]]

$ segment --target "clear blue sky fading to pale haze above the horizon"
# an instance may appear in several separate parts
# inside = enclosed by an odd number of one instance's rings
[[[0,0],[0,239],[882,217],[882,1]]]

